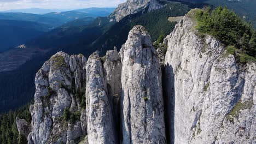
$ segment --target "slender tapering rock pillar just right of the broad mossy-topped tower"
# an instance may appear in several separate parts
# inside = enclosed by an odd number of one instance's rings
[[[116,143],[107,83],[97,52],[86,65],[86,121],[89,143]]]

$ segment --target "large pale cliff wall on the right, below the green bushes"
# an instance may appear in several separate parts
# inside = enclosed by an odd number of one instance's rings
[[[238,65],[219,40],[201,37],[194,11],[168,36],[170,143],[255,143],[256,64]]]

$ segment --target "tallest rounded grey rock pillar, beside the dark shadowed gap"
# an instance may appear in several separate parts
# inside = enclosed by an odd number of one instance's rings
[[[133,27],[120,56],[123,143],[166,143],[161,69],[144,27]]]

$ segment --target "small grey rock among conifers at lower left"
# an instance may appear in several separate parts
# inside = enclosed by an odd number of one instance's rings
[[[27,137],[30,134],[31,125],[25,119],[20,119],[19,117],[16,117],[16,125],[19,131],[19,135],[24,135],[25,137]]]

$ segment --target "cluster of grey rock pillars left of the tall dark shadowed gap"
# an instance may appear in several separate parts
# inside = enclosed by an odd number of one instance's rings
[[[148,32],[134,27],[122,51],[104,58],[95,52],[86,62],[59,52],[44,63],[29,143],[78,143],[84,136],[88,143],[166,143],[161,69]]]

